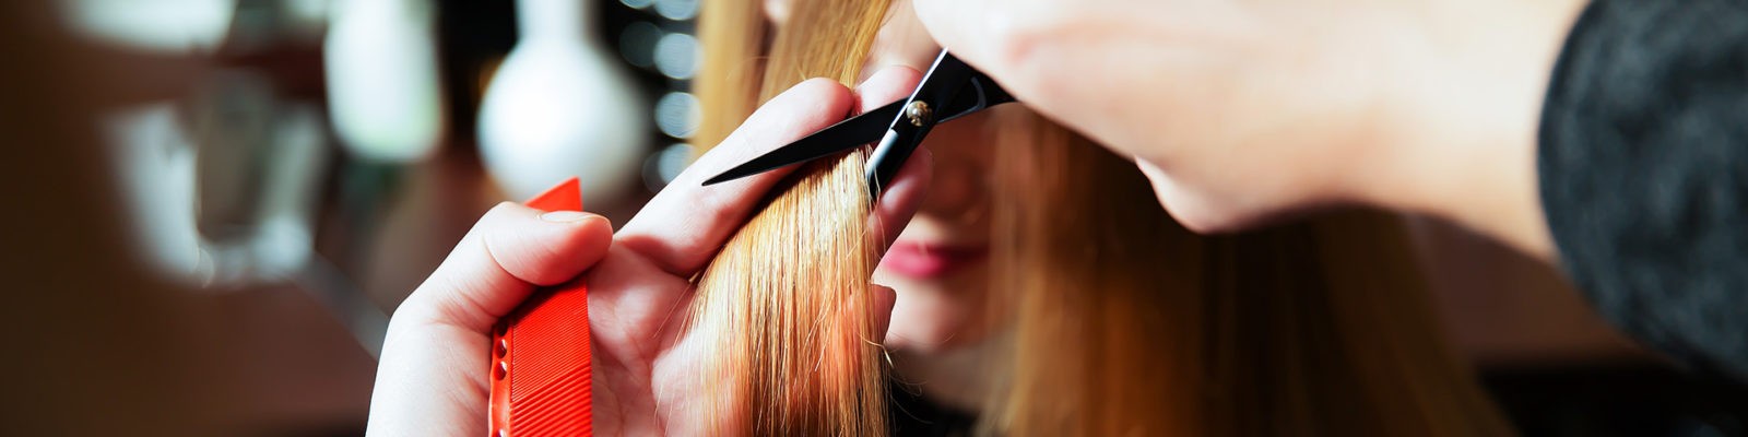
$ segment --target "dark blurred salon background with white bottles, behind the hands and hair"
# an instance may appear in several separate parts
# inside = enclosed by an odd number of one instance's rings
[[[692,159],[703,0],[9,0],[5,435],[360,435],[393,308],[498,201]],[[725,0],[717,0],[725,2]],[[1416,220],[1526,435],[1734,435],[1536,262]]]

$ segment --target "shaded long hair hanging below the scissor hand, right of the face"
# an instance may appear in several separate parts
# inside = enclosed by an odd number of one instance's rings
[[[1509,435],[1437,329],[1398,218],[1197,236],[1134,164],[996,119],[1003,435]]]

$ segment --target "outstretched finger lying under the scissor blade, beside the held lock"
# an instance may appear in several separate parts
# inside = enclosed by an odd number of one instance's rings
[[[843,121],[855,100],[844,86],[809,79],[746,117],[727,140],[697,159],[619,231],[624,245],[676,276],[690,276],[739,229],[753,205],[794,166],[703,187],[748,159]]]

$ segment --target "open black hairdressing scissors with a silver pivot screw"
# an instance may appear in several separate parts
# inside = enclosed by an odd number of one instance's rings
[[[888,103],[862,115],[850,117],[794,143],[766,152],[745,164],[729,168],[704,185],[745,178],[808,163],[837,152],[879,142],[869,156],[867,184],[869,196],[879,201],[891,178],[911,159],[911,152],[923,143],[935,124],[986,110],[995,105],[1014,101],[1002,86],[989,75],[977,72],[947,51],[935,56],[933,66],[923,75],[923,82],[909,98]]]

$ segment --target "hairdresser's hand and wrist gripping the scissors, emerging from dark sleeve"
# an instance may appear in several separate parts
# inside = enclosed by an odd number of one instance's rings
[[[1367,203],[1545,252],[1535,131],[1584,3],[916,0],[916,12],[1033,110],[1134,156],[1192,229]]]

